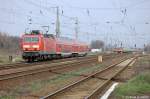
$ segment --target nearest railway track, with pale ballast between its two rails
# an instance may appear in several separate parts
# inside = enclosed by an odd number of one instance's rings
[[[41,99],[97,99],[100,92],[112,82],[112,79],[136,58],[137,56],[124,59],[96,73],[85,75],[83,79],[41,97]]]

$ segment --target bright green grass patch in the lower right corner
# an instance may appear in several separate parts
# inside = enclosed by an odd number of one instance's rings
[[[150,94],[150,71],[140,74],[115,90],[116,96],[135,96]]]

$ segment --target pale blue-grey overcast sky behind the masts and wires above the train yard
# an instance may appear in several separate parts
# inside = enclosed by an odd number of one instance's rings
[[[150,42],[150,0],[0,0],[0,31],[21,36],[26,28],[49,25],[54,34],[56,6],[62,36],[75,37],[77,17],[82,41],[101,39],[125,47]]]

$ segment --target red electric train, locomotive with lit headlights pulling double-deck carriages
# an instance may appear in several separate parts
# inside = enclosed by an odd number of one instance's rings
[[[27,61],[86,55],[87,44],[32,30],[21,39],[22,57]]]

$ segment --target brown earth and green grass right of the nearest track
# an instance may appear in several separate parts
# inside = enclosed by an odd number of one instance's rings
[[[121,81],[109,99],[150,98],[150,56],[140,57],[116,78]]]

